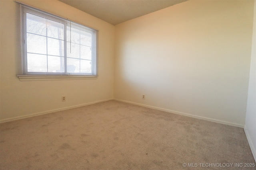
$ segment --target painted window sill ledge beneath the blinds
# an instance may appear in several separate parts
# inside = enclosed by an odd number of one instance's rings
[[[17,75],[20,81],[45,81],[45,80],[96,80],[98,76],[36,76]]]

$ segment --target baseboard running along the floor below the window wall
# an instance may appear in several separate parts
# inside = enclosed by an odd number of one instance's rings
[[[45,114],[48,114],[48,113],[54,113],[54,112],[57,112],[57,111],[73,109],[73,108],[76,108],[76,107],[87,106],[87,105],[96,104],[96,103],[100,103],[100,102],[106,102],[106,101],[109,101],[109,100],[113,100],[113,99],[100,100],[100,101],[97,101],[97,102],[90,102],[90,103],[80,104],[80,105],[76,105],[76,106],[64,107],[64,108],[54,109],[54,110],[49,110],[49,111],[42,111],[42,112],[39,112],[39,113],[30,114],[30,115],[12,117],[12,118],[8,118],[8,119],[0,120],[0,123],[6,123],[6,122],[9,122],[9,121],[25,119],[25,118],[28,118],[28,117],[34,117],[34,116],[38,116],[38,115],[45,115]]]

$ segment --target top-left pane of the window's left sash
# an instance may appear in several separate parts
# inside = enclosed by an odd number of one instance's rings
[[[26,29],[27,33],[34,33],[37,35],[46,36],[46,19],[30,13],[26,15]]]

